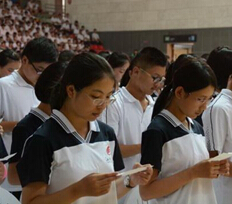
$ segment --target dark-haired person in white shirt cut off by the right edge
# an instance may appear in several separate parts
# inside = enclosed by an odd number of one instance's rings
[[[228,47],[214,49],[207,60],[214,70],[220,92],[202,116],[209,151],[232,152],[232,50]],[[232,201],[232,160],[230,176],[214,181],[218,204]]]

